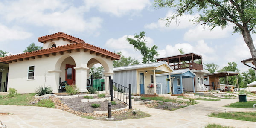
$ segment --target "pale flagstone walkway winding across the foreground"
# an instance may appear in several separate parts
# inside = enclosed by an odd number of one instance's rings
[[[65,111],[34,106],[0,105],[0,120],[9,128],[204,128],[208,123],[216,123],[235,128],[255,128],[256,122],[207,117],[211,112],[256,111],[256,108],[225,108],[224,105],[238,99],[221,101],[197,101],[175,111],[146,108],[134,105],[133,108],[151,114],[151,117],[122,121],[99,121],[81,118]],[[226,109],[226,110],[225,110]]]

